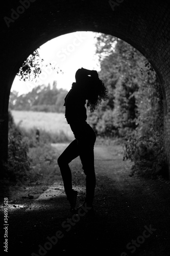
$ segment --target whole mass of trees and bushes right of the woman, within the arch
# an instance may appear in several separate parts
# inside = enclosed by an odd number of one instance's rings
[[[117,136],[125,143],[124,159],[134,165],[132,175],[165,175],[163,97],[150,63],[125,41],[110,35],[96,38],[101,55],[100,78],[110,100],[88,118],[100,136]]]

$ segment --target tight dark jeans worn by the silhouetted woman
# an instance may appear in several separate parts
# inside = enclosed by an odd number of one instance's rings
[[[72,178],[69,163],[76,157],[80,157],[84,174],[86,175],[86,203],[92,206],[95,189],[95,170],[94,170],[94,143],[96,135],[86,121],[70,124],[71,130],[75,135],[64,152],[58,158],[65,194],[70,195],[72,189]]]

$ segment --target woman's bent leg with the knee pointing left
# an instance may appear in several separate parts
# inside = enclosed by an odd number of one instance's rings
[[[60,167],[61,176],[63,179],[65,194],[68,197],[72,190],[72,177],[71,177],[71,170],[69,168],[69,163],[79,156],[78,151],[78,142],[75,139],[72,141],[64,152],[58,158],[58,165]]]

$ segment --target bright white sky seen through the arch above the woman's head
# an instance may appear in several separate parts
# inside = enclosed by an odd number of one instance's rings
[[[95,56],[93,32],[75,32],[56,37],[47,41],[40,47],[40,57],[46,63],[52,63],[53,66],[59,67],[63,74],[57,74],[56,70],[48,68],[42,71],[38,81],[20,81],[18,76],[15,77],[11,91],[17,91],[24,94],[32,90],[38,84],[53,84],[57,81],[57,88],[69,90],[72,82],[75,81],[75,73],[79,68],[100,70],[99,62]]]

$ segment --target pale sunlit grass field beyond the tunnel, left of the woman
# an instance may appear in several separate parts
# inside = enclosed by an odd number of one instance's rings
[[[39,127],[41,130],[52,133],[64,132],[72,137],[72,131],[63,113],[46,113],[33,111],[11,111],[14,121],[27,130]]]

